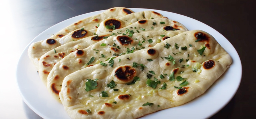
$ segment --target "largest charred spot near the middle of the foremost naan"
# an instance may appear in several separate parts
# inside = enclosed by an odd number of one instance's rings
[[[124,68],[124,70],[123,70]],[[115,71],[115,77],[119,80],[130,82],[133,80],[133,77],[136,75],[136,70],[131,66],[119,67]]]

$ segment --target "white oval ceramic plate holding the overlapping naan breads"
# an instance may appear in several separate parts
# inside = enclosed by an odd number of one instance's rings
[[[152,10],[144,8],[131,8],[134,12]],[[45,119],[68,119],[70,118],[65,112],[62,104],[58,103],[49,94],[48,90],[42,83],[37,73],[37,69],[33,66],[32,62],[28,57],[28,47],[31,43],[47,39],[50,34],[55,34],[66,26],[89,16],[99,14],[102,11],[91,12],[83,15],[79,15],[65,21],[62,21],[53,27],[45,30],[37,37],[35,37],[20,56],[16,79],[19,86],[20,94],[24,102],[39,116]],[[241,77],[242,77],[242,65],[239,55],[230,44],[230,42],[219,32],[213,28],[207,26],[206,24],[197,21],[195,19],[160,10],[152,10],[161,13],[163,16],[179,21],[188,30],[203,30],[211,34],[218,43],[231,55],[232,65],[224,73],[224,75],[219,78],[202,96],[177,107],[172,107],[162,111],[158,111],[153,114],[146,115],[142,118],[209,118],[220,109],[222,109],[234,96],[236,93]]]

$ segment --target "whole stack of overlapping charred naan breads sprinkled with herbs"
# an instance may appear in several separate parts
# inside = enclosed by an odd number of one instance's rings
[[[115,7],[31,44],[42,82],[71,118],[139,118],[202,95],[230,66],[208,33]]]

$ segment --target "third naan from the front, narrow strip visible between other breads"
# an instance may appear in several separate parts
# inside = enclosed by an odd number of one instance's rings
[[[160,24],[161,22],[165,22],[165,24]],[[153,25],[153,23],[156,23]],[[152,29],[153,27],[153,29]],[[141,28],[141,29],[140,29]],[[138,32],[146,32],[146,31],[170,31],[170,30],[182,30],[187,31],[187,28],[184,27],[181,23],[166,19],[166,18],[158,18],[158,19],[149,19],[149,20],[139,20],[127,27],[114,30],[110,33],[122,34],[126,33],[126,30],[133,30],[134,33]],[[109,36],[108,33],[98,34],[91,37],[86,37],[80,39],[78,41],[69,42],[60,47],[57,47],[47,53],[45,53],[39,61],[39,76],[41,80],[46,84],[46,79],[49,72],[52,70],[53,66],[60,61],[63,57],[67,56],[69,53],[76,51],[77,49],[85,49],[88,46],[104,39],[104,37]],[[92,39],[92,40],[91,40]],[[55,51],[56,53],[55,53]]]

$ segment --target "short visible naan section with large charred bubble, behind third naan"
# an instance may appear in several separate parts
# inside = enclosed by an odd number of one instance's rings
[[[160,13],[157,13],[154,11],[142,11],[142,12],[137,12],[137,13],[126,15],[119,19],[109,18],[109,19],[103,20],[100,23],[100,26],[97,29],[96,34],[113,31],[113,29],[107,29],[106,28],[107,25],[108,26],[115,25],[115,29],[120,29],[120,28],[126,27],[134,22],[137,22],[138,20],[154,19],[154,18],[167,18],[167,17],[164,17]]]

